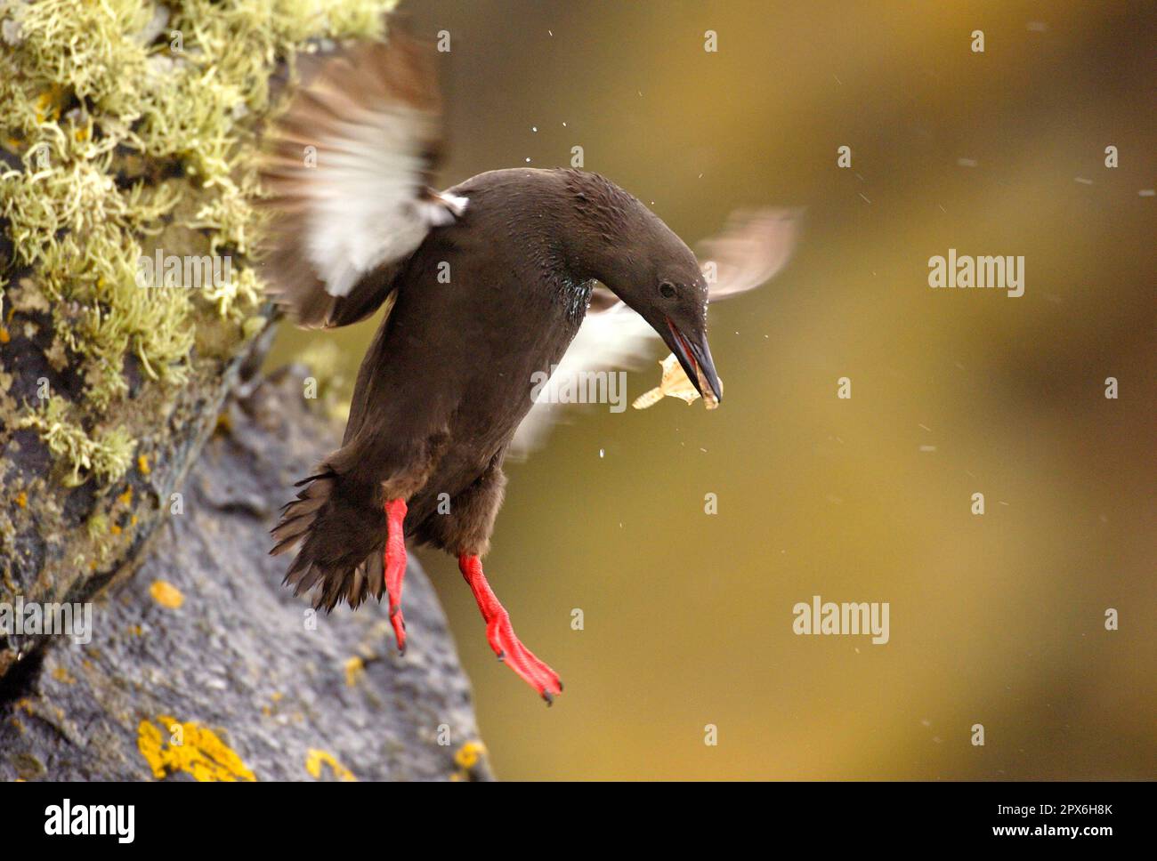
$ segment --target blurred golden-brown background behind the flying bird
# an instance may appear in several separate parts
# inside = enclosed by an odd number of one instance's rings
[[[403,12],[451,34],[443,186],[582,146],[692,245],[737,207],[806,208],[780,277],[712,309],[720,410],[588,407],[508,467],[487,572],[563,678],[553,708],[422,554],[496,773],[1157,777],[1155,8]],[[1024,296],[930,289],[949,247],[1024,255]],[[348,394],[376,325],[283,327],[271,362],[336,343]],[[890,602],[890,643],[795,636],[812,595]]]

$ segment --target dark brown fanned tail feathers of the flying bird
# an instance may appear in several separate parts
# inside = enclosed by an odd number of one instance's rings
[[[385,514],[368,492],[329,465],[302,478],[297,498],[281,509],[271,556],[301,545],[283,584],[295,595],[316,587],[314,607],[326,613],[346,601],[356,608],[385,591]]]

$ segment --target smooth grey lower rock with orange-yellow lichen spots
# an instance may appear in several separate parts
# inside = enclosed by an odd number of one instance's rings
[[[410,648],[384,608],[315,616],[266,530],[337,445],[297,380],[229,404],[91,641],[49,638],[0,681],[0,779],[487,778],[452,638],[411,559]],[[43,638],[36,639],[40,646]]]

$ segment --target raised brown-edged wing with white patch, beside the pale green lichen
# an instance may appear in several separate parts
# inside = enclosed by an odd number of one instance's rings
[[[466,200],[429,187],[442,146],[429,49],[393,35],[300,67],[260,162],[265,269],[299,325],[344,326],[386,299],[400,265]]]

